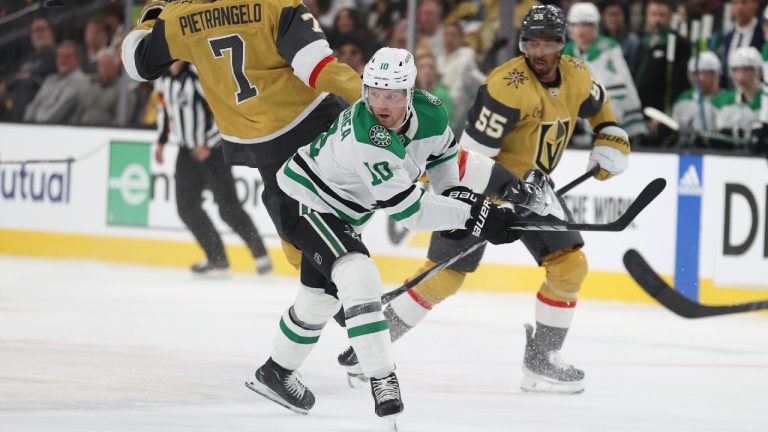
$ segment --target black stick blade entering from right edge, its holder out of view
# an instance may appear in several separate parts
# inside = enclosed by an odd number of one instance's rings
[[[624,267],[645,292],[662,306],[685,318],[705,318],[768,309],[768,300],[737,303],[724,306],[707,306],[689,300],[669,286],[634,249],[624,254]]]

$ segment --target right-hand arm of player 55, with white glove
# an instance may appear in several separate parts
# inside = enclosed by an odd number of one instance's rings
[[[600,172],[595,176],[598,180],[624,172],[630,151],[629,136],[617,125],[610,98],[597,81],[592,80],[589,94],[579,107],[579,117],[586,118],[597,134],[587,169],[599,165]]]

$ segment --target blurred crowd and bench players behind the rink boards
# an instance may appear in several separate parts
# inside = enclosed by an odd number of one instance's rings
[[[0,0],[0,23],[35,3]],[[151,83],[131,82],[121,95],[122,2],[88,3],[88,13],[52,19],[55,9],[39,8],[13,19],[25,27],[23,38],[0,25],[0,121],[153,127]],[[304,3],[338,58],[357,71],[377,48],[406,46],[406,0]],[[516,26],[536,3],[517,2]],[[566,12],[566,53],[589,63],[634,145],[762,151],[754,142],[768,141],[768,106],[760,114],[768,105],[761,104],[768,45],[758,0],[544,3]],[[517,43],[498,37],[499,0],[419,0],[415,18],[417,86],[443,100],[461,133],[477,88],[505,60],[500,50],[517,53]],[[644,116],[648,107],[672,121]],[[590,142],[588,126],[573,139]]]

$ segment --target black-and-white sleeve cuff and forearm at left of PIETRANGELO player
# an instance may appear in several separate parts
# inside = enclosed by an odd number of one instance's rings
[[[123,66],[128,76],[136,81],[157,79],[173,63],[165,38],[165,21],[159,18],[165,6],[164,1],[147,3],[138,25],[123,39]]]

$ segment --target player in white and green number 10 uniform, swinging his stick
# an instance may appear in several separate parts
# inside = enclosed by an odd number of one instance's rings
[[[246,385],[295,412],[307,413],[315,401],[296,369],[340,306],[376,414],[403,410],[381,278],[360,238],[374,211],[414,231],[450,230],[494,244],[518,237],[508,229],[517,220],[512,208],[459,186],[447,113],[439,99],[414,88],[415,79],[408,51],[377,51],[363,72],[363,98],[278,173],[280,188],[295,199],[282,205],[281,218],[303,254],[301,288],[280,320],[270,358]],[[434,193],[419,186],[425,172]]]

